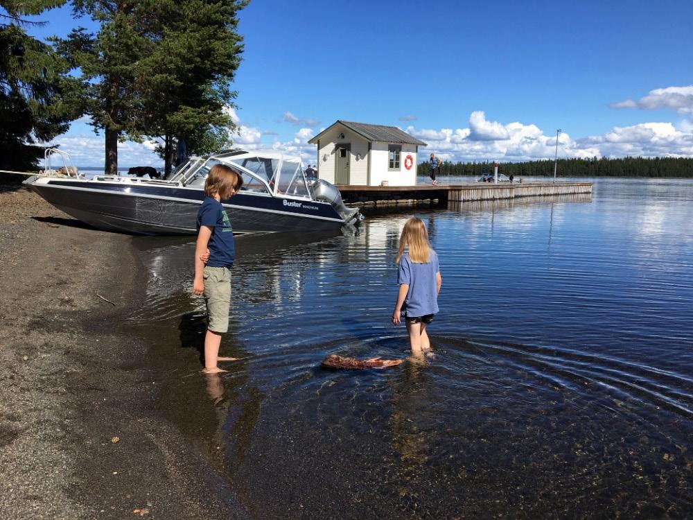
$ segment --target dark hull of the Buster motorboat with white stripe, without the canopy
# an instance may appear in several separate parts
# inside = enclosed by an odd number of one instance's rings
[[[133,182],[31,177],[25,183],[56,208],[98,229],[144,235],[197,232],[202,189]],[[253,193],[224,201],[234,233],[339,229],[342,217],[327,202]]]

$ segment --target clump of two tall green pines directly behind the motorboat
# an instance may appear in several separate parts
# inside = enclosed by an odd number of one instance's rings
[[[73,0],[78,15],[100,22],[58,42],[87,83],[87,112],[94,125],[119,139],[162,137],[170,168],[175,138],[191,153],[223,147],[222,130],[233,128],[225,107],[243,52],[236,32],[247,0]],[[107,135],[114,160],[116,141]],[[224,141],[224,142],[222,142]],[[110,150],[110,152],[109,152]]]

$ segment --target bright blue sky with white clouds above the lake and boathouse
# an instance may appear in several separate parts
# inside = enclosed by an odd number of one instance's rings
[[[37,35],[67,34],[69,8]],[[306,143],[337,119],[396,125],[453,160],[693,156],[693,2],[268,1],[240,12],[238,146]],[[103,142],[76,122],[76,163]],[[157,164],[123,144],[120,164]]]

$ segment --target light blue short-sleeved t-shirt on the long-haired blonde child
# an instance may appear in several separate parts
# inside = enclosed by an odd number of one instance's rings
[[[405,251],[399,259],[397,283],[407,284],[409,292],[402,306],[402,313],[410,318],[438,312],[436,274],[440,272],[438,255],[430,250],[428,263],[414,263]]]

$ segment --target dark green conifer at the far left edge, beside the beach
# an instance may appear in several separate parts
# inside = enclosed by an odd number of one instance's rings
[[[0,12],[0,168],[37,168],[38,144],[65,132],[78,118],[79,82],[51,46],[26,34],[23,15],[36,15],[64,1],[3,1]]]

